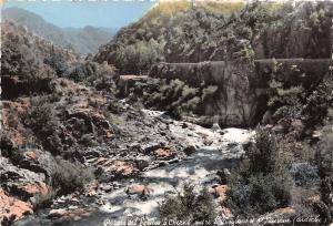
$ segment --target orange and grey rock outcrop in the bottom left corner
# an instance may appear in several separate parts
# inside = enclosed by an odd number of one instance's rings
[[[49,153],[31,150],[10,157],[12,160],[0,156],[0,209],[2,208],[0,222],[2,223],[10,223],[27,213],[32,213],[34,207],[54,194],[49,186],[54,158]],[[4,203],[1,203],[1,198]]]

